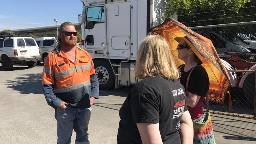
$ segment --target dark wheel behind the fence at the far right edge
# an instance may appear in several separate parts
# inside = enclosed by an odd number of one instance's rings
[[[254,107],[255,74],[249,74],[243,83],[243,92],[250,107]]]

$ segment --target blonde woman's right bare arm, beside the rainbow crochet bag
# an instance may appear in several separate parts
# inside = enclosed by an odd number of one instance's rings
[[[191,120],[190,114],[188,111],[185,111],[182,114],[180,120],[180,139],[182,144],[192,144],[193,143],[193,122]]]

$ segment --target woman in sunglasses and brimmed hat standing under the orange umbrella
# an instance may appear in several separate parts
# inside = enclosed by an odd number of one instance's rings
[[[188,91],[187,109],[192,120],[200,118],[203,114],[202,104],[203,97],[207,95],[209,90],[209,78],[205,68],[201,65],[202,61],[194,52],[195,48],[191,48],[193,44],[187,37],[174,38],[179,42],[177,46],[178,58],[185,62],[180,65],[180,83]],[[189,76],[190,75],[190,76]],[[189,77],[189,79],[187,79]],[[188,80],[188,82],[187,82]]]

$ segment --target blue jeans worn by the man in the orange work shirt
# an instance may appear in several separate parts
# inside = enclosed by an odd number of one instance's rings
[[[72,131],[76,132],[75,144],[90,144],[88,124],[91,117],[91,107],[79,109],[67,106],[64,110],[55,110],[57,120],[57,144],[70,144]]]

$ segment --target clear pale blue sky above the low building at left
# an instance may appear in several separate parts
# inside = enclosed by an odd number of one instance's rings
[[[80,0],[1,0],[0,31],[78,22]]]

